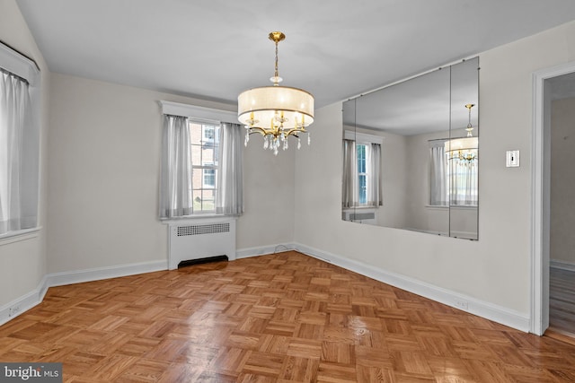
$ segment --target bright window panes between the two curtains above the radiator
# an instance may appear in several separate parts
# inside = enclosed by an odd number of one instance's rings
[[[190,120],[193,213],[216,212],[219,126]]]

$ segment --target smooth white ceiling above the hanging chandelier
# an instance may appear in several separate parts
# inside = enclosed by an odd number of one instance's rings
[[[575,20],[573,0],[17,0],[51,72],[236,104],[282,85],[319,108]]]

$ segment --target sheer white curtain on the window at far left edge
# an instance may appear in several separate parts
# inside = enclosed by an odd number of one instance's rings
[[[37,226],[38,155],[28,151],[34,150],[32,123],[28,83],[0,70],[0,235]]]

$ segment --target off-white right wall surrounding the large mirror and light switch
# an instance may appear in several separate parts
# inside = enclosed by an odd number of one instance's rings
[[[296,242],[518,312],[530,311],[532,74],[575,59],[575,22],[480,55],[479,240],[342,222],[341,104],[296,158]],[[505,152],[521,151],[506,168]]]

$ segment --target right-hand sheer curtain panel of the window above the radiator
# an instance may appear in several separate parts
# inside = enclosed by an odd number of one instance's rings
[[[238,124],[220,126],[219,171],[217,173],[216,213],[243,213],[242,129]]]

